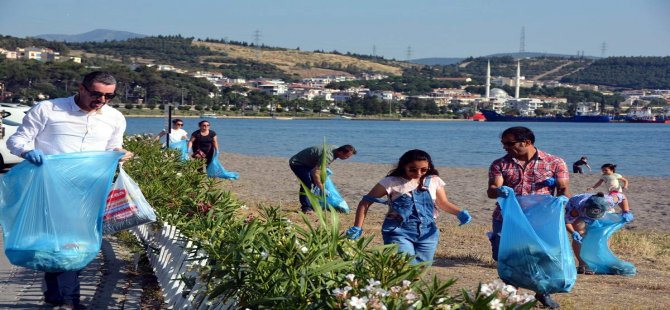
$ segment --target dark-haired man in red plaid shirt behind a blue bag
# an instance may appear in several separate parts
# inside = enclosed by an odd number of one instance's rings
[[[541,150],[535,144],[535,134],[526,127],[511,127],[503,131],[500,142],[507,155],[496,159],[489,168],[489,198],[507,197],[511,194],[523,196],[531,194],[552,194],[570,197],[568,190],[569,173],[565,161]],[[510,193],[502,186],[514,189]],[[496,205],[493,211],[493,231],[489,237],[493,259],[498,260],[498,246],[502,231],[502,213]],[[549,294],[535,294],[535,298],[548,308],[558,308],[559,304]]]

